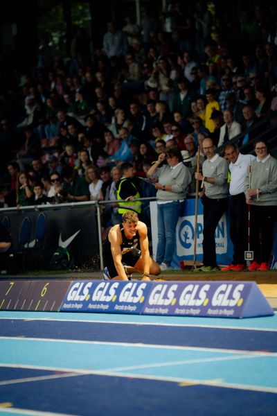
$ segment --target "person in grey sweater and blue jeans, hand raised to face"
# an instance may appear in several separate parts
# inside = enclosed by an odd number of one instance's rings
[[[168,164],[163,164],[164,160]],[[148,177],[157,179],[158,247],[156,261],[161,270],[170,268],[176,246],[176,226],[191,181],[189,169],[183,164],[178,148],[168,148],[152,164]]]

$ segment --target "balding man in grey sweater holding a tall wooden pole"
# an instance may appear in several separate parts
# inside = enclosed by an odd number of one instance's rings
[[[202,203],[204,206],[203,227],[203,272],[217,270],[215,252],[215,229],[228,205],[228,162],[215,153],[212,139],[204,139],[202,173],[196,172],[195,179],[202,181]]]

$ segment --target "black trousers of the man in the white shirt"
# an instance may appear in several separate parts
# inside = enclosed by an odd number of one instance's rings
[[[233,264],[245,264],[244,251],[247,250],[248,206],[244,193],[231,196],[230,238],[233,243]]]

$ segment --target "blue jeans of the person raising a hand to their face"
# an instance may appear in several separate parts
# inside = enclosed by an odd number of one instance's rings
[[[158,247],[157,263],[170,266],[176,247],[176,226],[185,202],[172,201],[157,204],[158,207]]]

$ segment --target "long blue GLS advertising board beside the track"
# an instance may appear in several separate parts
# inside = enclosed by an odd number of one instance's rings
[[[252,281],[75,281],[60,311],[217,318],[274,315]]]

